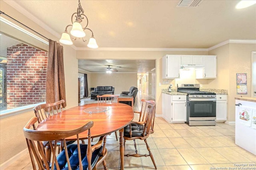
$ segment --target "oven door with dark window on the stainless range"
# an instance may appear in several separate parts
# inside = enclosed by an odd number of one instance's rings
[[[216,119],[216,98],[189,98],[189,119]]]

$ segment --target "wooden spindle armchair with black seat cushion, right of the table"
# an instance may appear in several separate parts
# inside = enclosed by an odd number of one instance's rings
[[[135,154],[125,154],[124,156],[134,156],[134,157],[141,157],[141,156],[150,156],[155,168],[156,163],[152,152],[150,151],[150,147],[147,142],[147,138],[150,134],[154,133],[154,118],[156,113],[156,102],[153,100],[141,100],[144,105],[142,105],[140,113],[140,120],[139,121],[132,121],[129,125],[124,127],[124,145],[126,140],[133,140],[134,147],[135,147]],[[135,139],[144,140],[148,153],[149,154],[138,154],[138,150],[136,148]],[[156,168],[157,169],[157,168]]]

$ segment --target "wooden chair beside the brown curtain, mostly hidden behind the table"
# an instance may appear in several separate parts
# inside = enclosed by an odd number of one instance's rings
[[[43,121],[44,119],[48,118],[51,115],[56,115],[58,113],[62,112],[62,104],[65,102],[65,100],[60,100],[58,102],[54,103],[46,103],[46,104],[40,104],[33,108],[34,113],[37,117],[38,123]],[[74,143],[75,141],[68,141],[67,145]],[[82,140],[82,143],[84,144],[84,141]],[[49,161],[51,157],[51,149],[48,141],[44,141],[43,145],[45,147],[46,152],[46,158]],[[58,153],[63,149],[63,143],[61,141],[57,141],[58,146]]]

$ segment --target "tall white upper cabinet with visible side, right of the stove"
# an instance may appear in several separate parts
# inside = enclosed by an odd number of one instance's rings
[[[216,78],[216,55],[204,56],[204,67],[196,68],[196,79]]]

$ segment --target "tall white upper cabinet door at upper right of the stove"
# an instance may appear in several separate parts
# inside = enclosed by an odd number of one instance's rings
[[[216,78],[216,56],[204,57],[204,78]]]

